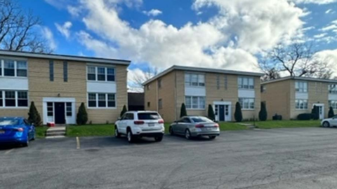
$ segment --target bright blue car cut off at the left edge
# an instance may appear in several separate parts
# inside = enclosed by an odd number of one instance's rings
[[[35,127],[25,118],[0,118],[1,144],[28,146],[35,139]]]

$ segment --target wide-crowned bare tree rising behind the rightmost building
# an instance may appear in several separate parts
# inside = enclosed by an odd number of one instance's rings
[[[278,45],[259,66],[266,73],[266,80],[279,78],[281,73],[298,77],[330,78],[332,72],[329,61],[318,59],[315,52],[310,43]]]

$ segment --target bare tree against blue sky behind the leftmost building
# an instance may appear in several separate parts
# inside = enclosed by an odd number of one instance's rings
[[[0,49],[51,52],[39,25],[41,20],[32,11],[25,12],[14,0],[0,0]]]

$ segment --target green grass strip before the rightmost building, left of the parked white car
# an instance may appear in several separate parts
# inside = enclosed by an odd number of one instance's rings
[[[252,122],[249,122],[253,124]],[[256,126],[260,129],[275,129],[275,128],[293,128],[293,127],[319,127],[320,120],[267,120],[258,121]]]

